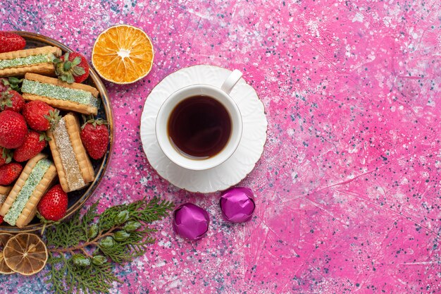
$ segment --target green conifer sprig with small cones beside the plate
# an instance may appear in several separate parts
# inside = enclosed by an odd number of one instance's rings
[[[108,293],[114,281],[114,264],[131,262],[144,255],[154,243],[149,223],[163,219],[173,209],[172,202],[158,198],[139,200],[106,209],[97,214],[98,202],[80,216],[49,223],[45,231],[49,250],[46,283],[61,293]]]

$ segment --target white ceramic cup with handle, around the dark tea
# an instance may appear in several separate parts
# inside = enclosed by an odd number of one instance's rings
[[[196,84],[183,87],[182,89],[173,92],[166,101],[161,105],[158,116],[156,117],[155,133],[156,139],[159,142],[159,147],[166,154],[166,157],[173,161],[178,166],[193,171],[202,171],[205,169],[212,169],[224,161],[229,159],[239,146],[242,138],[242,115],[236,102],[230,97],[232,88],[242,78],[240,71],[232,71],[228,78],[223,82],[221,88],[212,85]],[[168,119],[175,106],[183,100],[204,95],[216,99],[228,111],[231,120],[230,138],[221,152],[209,157],[207,159],[195,159],[188,157],[186,154],[180,152],[178,147],[175,147],[168,135]]]

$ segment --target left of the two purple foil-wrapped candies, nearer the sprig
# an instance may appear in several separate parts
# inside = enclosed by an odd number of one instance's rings
[[[209,223],[206,210],[192,203],[181,204],[173,212],[173,230],[183,238],[199,240],[209,231]]]

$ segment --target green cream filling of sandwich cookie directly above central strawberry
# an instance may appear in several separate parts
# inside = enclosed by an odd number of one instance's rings
[[[99,99],[94,97],[90,92],[46,84],[44,82],[37,82],[35,80],[23,80],[21,92],[59,100],[77,102],[79,104],[92,105],[97,108],[99,107]]]

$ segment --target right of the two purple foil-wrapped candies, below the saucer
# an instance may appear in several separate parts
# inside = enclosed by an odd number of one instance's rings
[[[223,192],[219,204],[223,218],[232,223],[249,221],[256,208],[253,192],[249,188],[242,187],[231,188]]]

